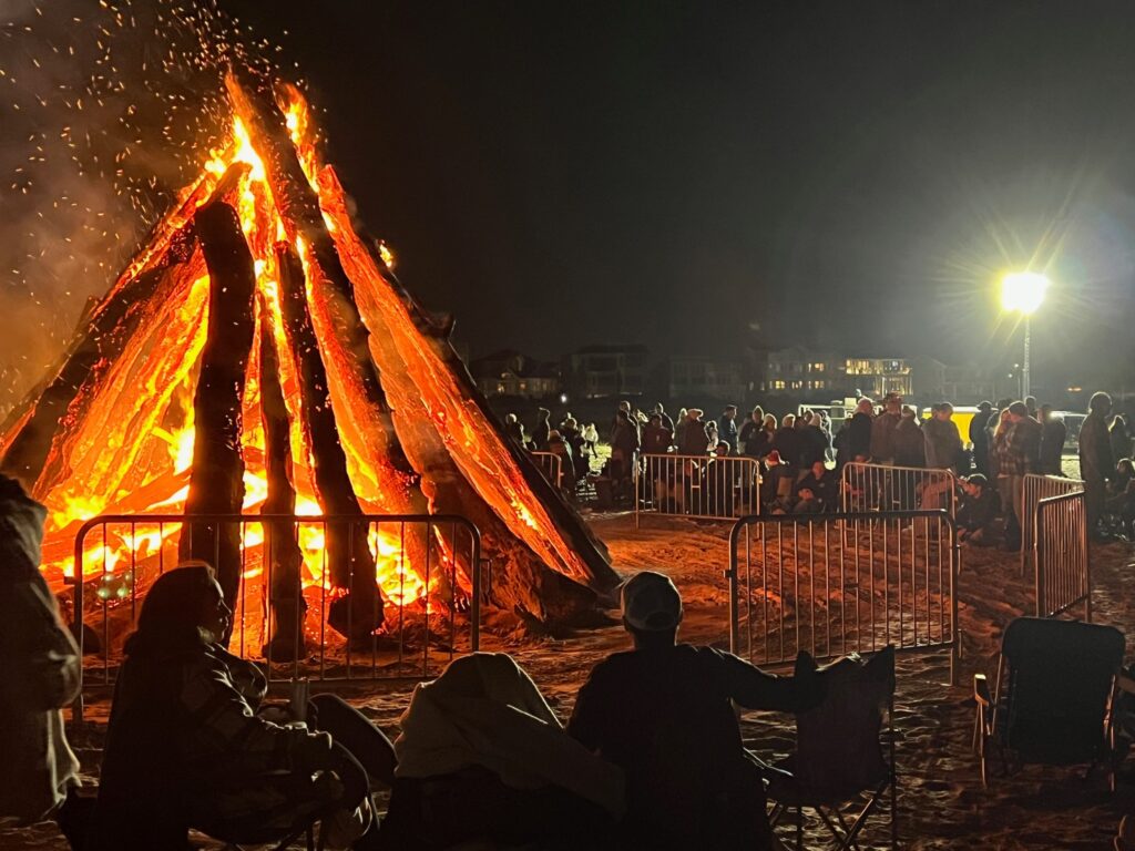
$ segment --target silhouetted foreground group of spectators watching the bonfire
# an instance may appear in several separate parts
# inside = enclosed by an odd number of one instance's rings
[[[680,643],[678,589],[642,572],[621,592],[632,649],[595,667],[566,725],[510,656],[472,654],[414,689],[392,742],[335,696],[267,701],[258,666],[226,650],[215,572],[187,562],[142,601],[83,794],[61,714],[81,660],[39,571],[44,517],[0,477],[0,820],[54,819],[74,849],[185,851],[191,829],[278,843],[314,821],[339,849],[770,849],[775,769],[742,747],[734,706],[824,698],[814,664],[777,677]]]

